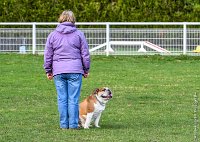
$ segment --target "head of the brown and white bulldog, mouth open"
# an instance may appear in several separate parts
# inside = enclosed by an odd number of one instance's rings
[[[112,98],[112,92],[108,87],[98,88],[94,91],[94,94],[102,103],[107,103]]]

